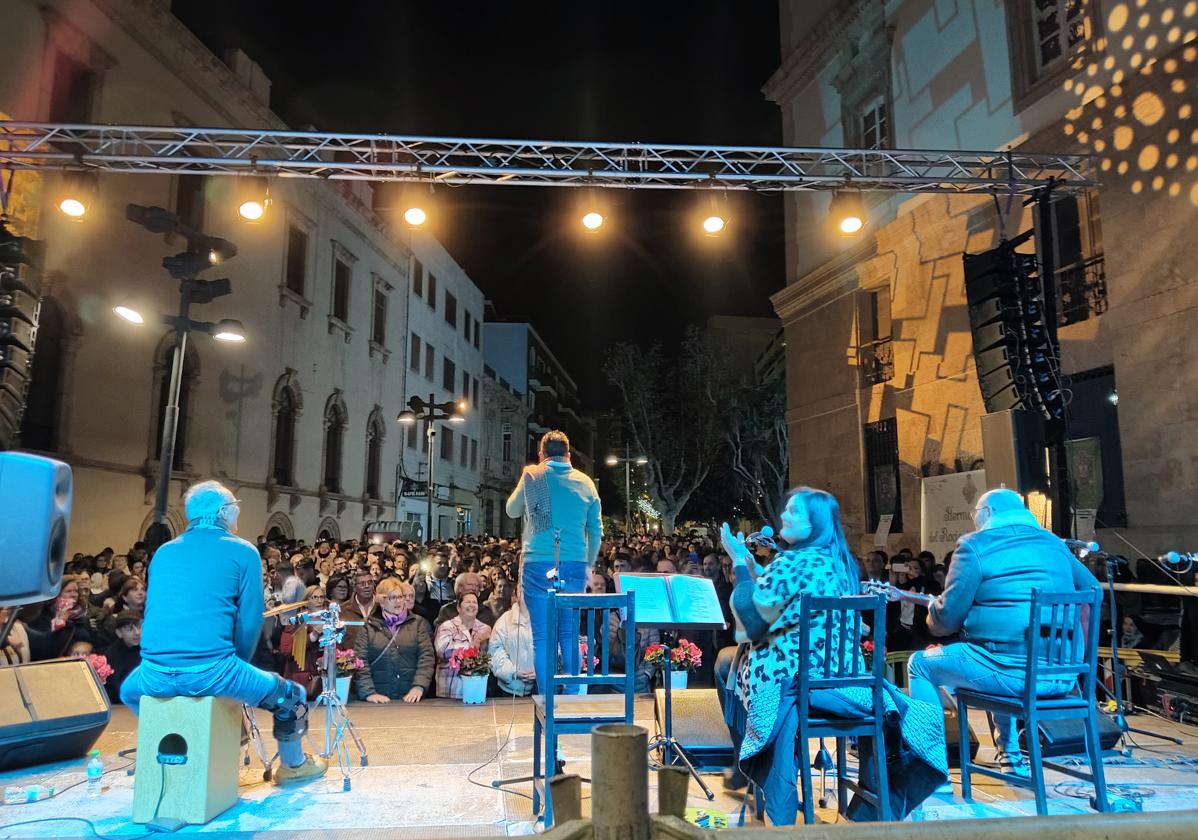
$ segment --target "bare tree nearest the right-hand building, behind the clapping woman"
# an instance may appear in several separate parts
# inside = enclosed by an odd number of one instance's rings
[[[785,382],[734,391],[727,403],[724,440],[734,492],[750,501],[763,521],[774,521],[789,479]]]

